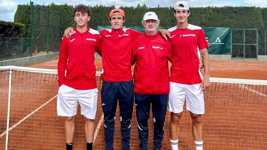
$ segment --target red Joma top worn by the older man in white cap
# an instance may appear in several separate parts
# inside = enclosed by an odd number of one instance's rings
[[[168,60],[172,62],[170,40],[160,34],[139,35],[133,42],[134,93],[168,94],[170,77]]]

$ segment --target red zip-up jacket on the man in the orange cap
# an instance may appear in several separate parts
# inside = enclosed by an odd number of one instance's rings
[[[103,29],[100,31],[98,53],[102,56],[103,70],[101,78],[106,82],[132,80],[131,43],[140,32],[131,28],[119,30]]]

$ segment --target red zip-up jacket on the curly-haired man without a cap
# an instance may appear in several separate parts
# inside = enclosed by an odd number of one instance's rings
[[[95,49],[100,33],[88,27],[84,33],[74,28],[71,38],[63,36],[58,62],[58,82],[86,90],[96,88]],[[66,70],[66,75],[65,75]]]

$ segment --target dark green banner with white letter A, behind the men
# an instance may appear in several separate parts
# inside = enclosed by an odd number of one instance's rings
[[[110,29],[111,26],[97,26],[97,30],[103,30],[104,28]],[[135,31],[144,33],[143,27],[129,27]],[[171,27],[159,27],[158,29],[169,29]],[[206,41],[209,44],[208,53],[209,54],[231,54],[231,28],[203,28]]]

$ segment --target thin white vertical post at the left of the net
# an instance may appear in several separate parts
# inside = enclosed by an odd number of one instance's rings
[[[10,68],[10,70],[9,70],[8,110],[7,110],[7,123],[6,123],[5,150],[7,150],[7,148],[8,148],[9,117],[10,117],[10,98],[11,98],[11,81],[12,81],[12,68]]]

